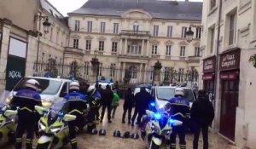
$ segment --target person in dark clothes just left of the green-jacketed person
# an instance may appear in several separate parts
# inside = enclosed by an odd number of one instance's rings
[[[111,110],[112,110],[111,103],[112,103],[112,100],[113,100],[113,91],[110,89],[110,86],[107,85],[106,89],[102,90],[102,117],[101,117],[101,122],[103,121],[105,110],[106,110],[106,108],[108,108],[108,123],[112,123],[112,121],[111,121]]]

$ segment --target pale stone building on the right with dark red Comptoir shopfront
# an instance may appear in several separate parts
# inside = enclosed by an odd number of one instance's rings
[[[255,15],[254,0],[203,2],[201,87],[213,93],[213,128],[244,148],[256,146]]]

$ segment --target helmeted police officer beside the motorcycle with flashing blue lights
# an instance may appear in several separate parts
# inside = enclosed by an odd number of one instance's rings
[[[166,104],[165,109],[170,110],[173,119],[183,122],[180,126],[173,126],[172,134],[170,137],[171,146],[170,149],[176,148],[176,136],[179,136],[179,146],[180,149],[186,148],[185,133],[186,133],[186,121],[189,117],[189,100],[184,99],[184,90],[182,88],[177,88],[174,91],[174,98],[169,100]]]

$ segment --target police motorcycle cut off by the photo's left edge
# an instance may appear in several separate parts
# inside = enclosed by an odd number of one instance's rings
[[[15,140],[15,115],[17,111],[9,110],[9,106],[0,102],[0,142]]]

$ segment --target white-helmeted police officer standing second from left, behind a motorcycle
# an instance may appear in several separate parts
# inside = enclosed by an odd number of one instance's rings
[[[72,82],[69,84],[69,94],[64,98],[67,100],[68,114],[77,116],[75,121],[68,122],[71,146],[72,149],[77,149],[76,129],[78,130],[84,123],[83,111],[87,108],[86,96],[79,93],[79,83]]]

